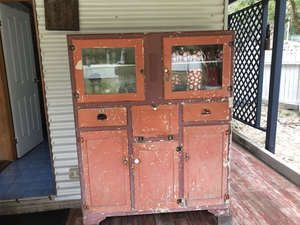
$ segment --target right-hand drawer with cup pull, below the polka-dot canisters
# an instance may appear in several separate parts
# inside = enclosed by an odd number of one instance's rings
[[[183,122],[229,119],[229,102],[182,105]]]

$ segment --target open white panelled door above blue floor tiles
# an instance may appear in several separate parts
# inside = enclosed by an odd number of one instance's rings
[[[29,14],[0,4],[1,38],[18,158],[43,141]]]

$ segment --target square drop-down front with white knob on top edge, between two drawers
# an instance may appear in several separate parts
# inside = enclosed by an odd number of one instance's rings
[[[133,106],[133,137],[178,136],[178,105]]]

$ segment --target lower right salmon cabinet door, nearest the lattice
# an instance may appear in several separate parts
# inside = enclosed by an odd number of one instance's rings
[[[228,125],[184,127],[184,197],[188,206],[224,203]]]

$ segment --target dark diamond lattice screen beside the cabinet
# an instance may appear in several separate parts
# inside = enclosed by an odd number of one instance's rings
[[[228,29],[236,32],[233,117],[261,130],[265,130],[260,127],[260,113],[267,19],[268,1],[228,16]]]

